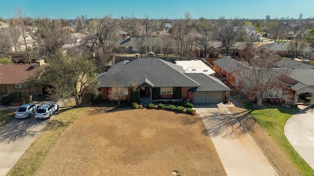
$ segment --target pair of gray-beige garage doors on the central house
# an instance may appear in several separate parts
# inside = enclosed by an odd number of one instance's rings
[[[194,102],[221,102],[222,91],[194,92]]]

